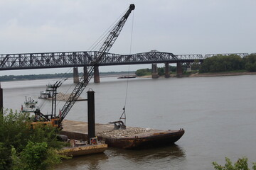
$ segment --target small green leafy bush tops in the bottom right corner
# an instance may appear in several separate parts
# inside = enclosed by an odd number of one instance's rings
[[[247,162],[248,162],[248,159],[246,157],[242,157],[238,159],[238,161],[235,162],[235,164],[233,165],[230,159],[226,157],[224,166],[217,164],[217,162],[213,162],[212,164],[215,170],[250,170]],[[256,170],[256,163],[253,163],[252,169]]]

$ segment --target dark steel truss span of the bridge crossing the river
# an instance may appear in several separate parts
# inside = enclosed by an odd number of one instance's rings
[[[60,67],[85,67],[95,61],[97,51],[83,52],[41,52],[0,55],[0,70],[11,69],[46,69]],[[106,53],[98,66],[124,64],[152,64],[152,63],[190,63],[203,62],[207,57],[215,55],[239,55],[245,57],[248,53],[227,53],[203,55],[174,55],[170,52],[142,52],[134,55],[117,55]]]

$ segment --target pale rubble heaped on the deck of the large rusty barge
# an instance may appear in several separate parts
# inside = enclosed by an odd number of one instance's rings
[[[144,132],[150,132],[153,131],[153,129],[150,128],[129,128],[126,130],[109,130],[109,131],[103,131],[100,133],[97,133],[97,136],[102,136],[102,137],[112,137],[112,138],[119,138],[119,137],[130,137],[134,136],[139,133],[144,133]]]

